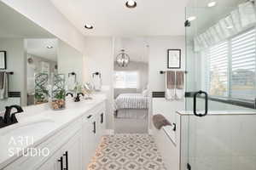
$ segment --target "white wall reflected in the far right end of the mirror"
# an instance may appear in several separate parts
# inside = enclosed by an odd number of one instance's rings
[[[84,56],[75,48],[70,47],[66,42],[58,42],[58,73],[65,74],[66,80],[68,73],[77,74],[77,82],[84,82]]]

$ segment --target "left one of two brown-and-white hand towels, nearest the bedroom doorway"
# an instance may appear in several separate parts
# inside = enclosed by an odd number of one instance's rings
[[[166,71],[166,99],[175,99],[175,71]]]

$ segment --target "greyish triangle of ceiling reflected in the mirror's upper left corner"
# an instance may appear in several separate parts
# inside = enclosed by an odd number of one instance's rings
[[[0,37],[53,37],[25,16],[0,1]]]

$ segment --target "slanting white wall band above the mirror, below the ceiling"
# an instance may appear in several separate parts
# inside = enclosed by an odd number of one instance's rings
[[[84,35],[49,1],[1,0],[73,48],[84,52]]]

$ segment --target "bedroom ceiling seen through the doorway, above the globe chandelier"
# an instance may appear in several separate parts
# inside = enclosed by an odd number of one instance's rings
[[[148,42],[144,37],[119,37],[115,39],[114,55],[120,54],[120,50],[125,49],[131,61],[148,62]],[[116,57],[114,57],[115,61]]]

